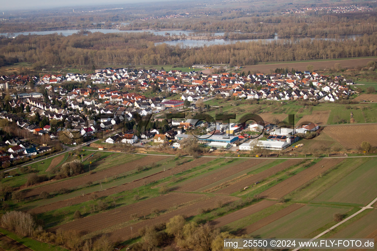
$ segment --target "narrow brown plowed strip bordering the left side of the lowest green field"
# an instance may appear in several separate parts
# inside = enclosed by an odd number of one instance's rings
[[[273,213],[263,219],[261,219],[260,221],[257,221],[251,225],[248,225],[247,227],[239,230],[237,232],[237,234],[239,236],[241,236],[242,234],[250,234],[256,230],[258,230],[259,228],[262,228],[274,221],[277,221],[278,219],[292,213],[293,211],[296,211],[297,209],[303,207],[305,204],[292,204],[292,205],[289,205],[288,207],[285,207],[283,208],[282,210],[279,210],[277,211],[276,213]]]

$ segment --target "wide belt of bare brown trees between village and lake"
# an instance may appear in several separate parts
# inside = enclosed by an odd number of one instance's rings
[[[228,45],[184,47],[155,44],[163,36],[153,33],[88,33],[0,37],[3,64],[32,62],[43,65],[253,65],[257,62],[335,59],[377,55],[377,34],[354,39],[282,39]]]

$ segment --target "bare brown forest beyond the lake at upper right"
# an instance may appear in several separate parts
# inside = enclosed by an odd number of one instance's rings
[[[326,36],[329,34],[360,34],[377,31],[377,15],[368,13],[347,13],[320,16],[259,16],[243,12],[200,17],[195,19],[179,18],[164,21],[133,22],[121,27],[122,30],[140,29],[179,29],[198,31],[240,31],[264,32],[279,37]]]

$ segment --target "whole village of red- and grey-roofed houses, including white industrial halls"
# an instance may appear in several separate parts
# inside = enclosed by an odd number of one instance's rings
[[[317,131],[319,125],[311,122],[280,129],[276,121],[210,123],[192,117],[217,109],[205,103],[211,99],[339,102],[355,93],[350,79],[310,71],[264,75],[105,68],[92,74],[0,79],[6,100],[0,118],[8,121],[0,142],[3,167],[95,138],[110,144],[173,149],[182,149],[188,138],[196,138],[209,151],[251,150],[256,146],[250,142],[257,141],[258,148],[280,151],[296,143],[298,134]],[[191,117],[166,120],[166,114],[177,112]],[[149,123],[138,127],[143,118]],[[249,140],[250,136],[259,140]]]

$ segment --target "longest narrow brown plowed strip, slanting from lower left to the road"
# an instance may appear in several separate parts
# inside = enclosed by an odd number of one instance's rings
[[[156,156],[152,156],[152,157],[156,157]],[[100,191],[100,192],[96,192],[95,194],[98,196],[98,198],[100,198],[100,197],[103,197],[103,196],[112,195],[114,193],[119,193],[119,192],[123,192],[123,191],[126,191],[126,190],[134,189],[134,188],[143,186],[144,184],[150,183],[152,181],[156,181],[156,180],[160,180],[162,178],[166,178],[166,177],[173,175],[175,173],[179,173],[179,172],[182,172],[182,171],[185,171],[185,170],[189,170],[190,168],[193,168],[195,166],[200,166],[200,165],[205,164],[205,163],[207,163],[211,160],[213,160],[213,158],[205,158],[205,157],[198,158],[196,160],[190,161],[190,162],[182,164],[180,166],[168,169],[165,172],[158,172],[154,175],[149,175],[145,178],[141,178],[141,179],[132,181],[130,183],[125,183],[125,184],[120,185],[120,186],[111,187],[109,189],[106,189],[106,190],[103,190],[103,191]],[[58,208],[61,208],[61,207],[66,207],[68,202],[70,202],[71,204],[78,204],[78,203],[82,203],[82,202],[85,202],[85,201],[89,201],[91,199],[90,195],[91,194],[88,193],[88,194],[85,194],[83,196],[77,196],[75,198],[54,202],[54,203],[51,203],[51,204],[48,204],[48,205],[43,205],[41,207],[37,207],[37,208],[33,208],[32,210],[29,210],[29,213],[43,213],[43,212],[55,210],[55,209],[58,209]]]

